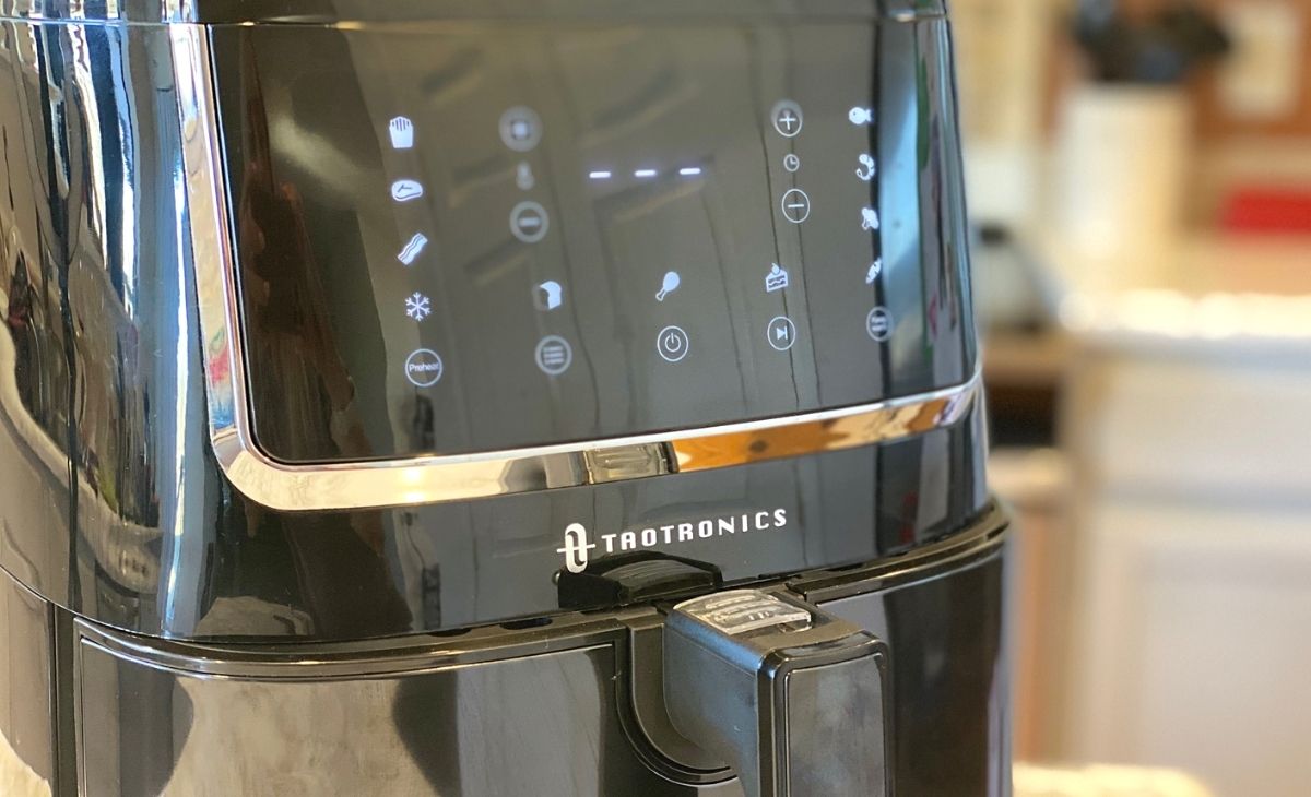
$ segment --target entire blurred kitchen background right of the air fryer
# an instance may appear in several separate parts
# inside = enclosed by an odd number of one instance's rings
[[[952,10],[1017,792],[1311,794],[1311,0]]]

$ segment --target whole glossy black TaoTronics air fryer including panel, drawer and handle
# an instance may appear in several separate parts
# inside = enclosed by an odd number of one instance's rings
[[[0,10],[0,783],[1008,793],[940,0]]]

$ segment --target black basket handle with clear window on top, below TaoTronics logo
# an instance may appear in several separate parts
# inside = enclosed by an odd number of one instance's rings
[[[886,676],[884,642],[785,595],[714,593],[665,623],[670,720],[749,797],[886,797]]]

